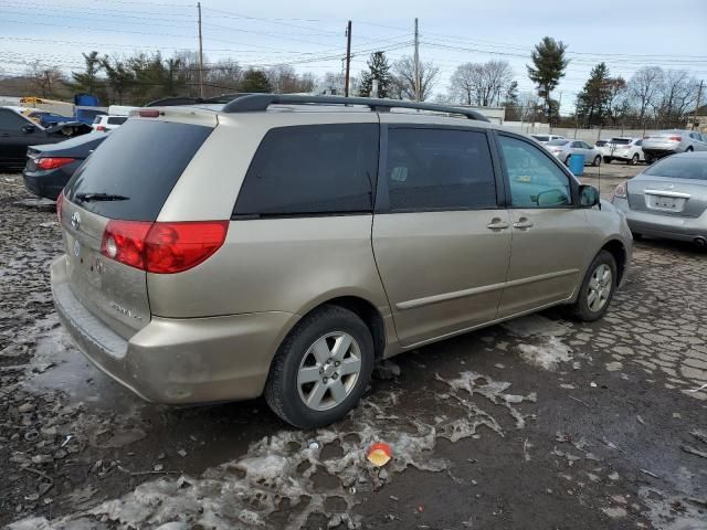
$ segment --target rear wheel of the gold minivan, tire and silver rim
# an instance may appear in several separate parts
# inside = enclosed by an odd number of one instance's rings
[[[345,338],[351,339],[350,346],[337,354],[336,344]],[[338,373],[344,364],[354,370],[356,359],[358,372]],[[324,306],[303,318],[281,344],[265,383],[265,400],[295,427],[324,427],[356,406],[373,362],[373,339],[363,320],[342,307]],[[312,405],[305,403],[307,399]]]

